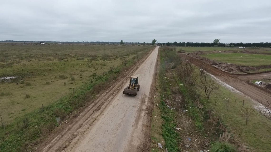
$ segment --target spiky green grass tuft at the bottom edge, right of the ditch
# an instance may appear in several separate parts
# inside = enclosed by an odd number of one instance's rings
[[[214,143],[210,152],[236,152],[236,149],[230,143],[222,141]]]

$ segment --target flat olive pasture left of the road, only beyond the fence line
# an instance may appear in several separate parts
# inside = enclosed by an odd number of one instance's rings
[[[95,82],[151,47],[0,45],[0,111],[5,123]],[[13,76],[13,79],[4,77]],[[21,83],[21,80],[23,82]]]

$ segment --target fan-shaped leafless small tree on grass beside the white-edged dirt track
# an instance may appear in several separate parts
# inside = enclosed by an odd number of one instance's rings
[[[213,80],[213,79],[207,79],[206,81],[201,79],[201,81],[199,83],[199,88],[204,90],[207,99],[210,98],[210,94],[214,90],[218,89],[219,86],[220,86],[219,82],[217,80]]]

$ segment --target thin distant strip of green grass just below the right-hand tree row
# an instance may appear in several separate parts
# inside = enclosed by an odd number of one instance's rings
[[[183,52],[195,52],[195,51],[228,51],[228,50],[240,50],[240,48],[231,47],[176,47],[176,51]]]

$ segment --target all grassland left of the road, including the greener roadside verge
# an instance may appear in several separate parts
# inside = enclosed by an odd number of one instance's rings
[[[34,151],[61,121],[78,114],[152,48],[1,46],[0,78],[15,78],[0,79],[0,151]]]

